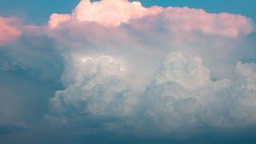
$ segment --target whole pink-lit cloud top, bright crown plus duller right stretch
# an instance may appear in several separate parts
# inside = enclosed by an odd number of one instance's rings
[[[153,17],[153,21],[143,21],[143,18]],[[140,20],[140,23],[130,23],[130,20]],[[90,2],[82,0],[72,14],[52,14],[49,21],[51,29],[62,22],[74,20],[77,22],[95,22],[106,27],[117,27],[122,23],[131,24],[140,30],[149,26],[162,27],[172,34],[202,33],[237,38],[250,34],[254,30],[250,19],[239,14],[210,14],[200,9],[187,7],[153,6],[146,8],[140,2],[127,0],[102,0]]]

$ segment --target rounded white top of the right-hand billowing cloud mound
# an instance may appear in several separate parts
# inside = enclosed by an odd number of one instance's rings
[[[210,70],[202,66],[201,58],[186,58],[180,52],[167,56],[155,76],[155,82],[177,82],[186,89],[197,89],[210,83]]]

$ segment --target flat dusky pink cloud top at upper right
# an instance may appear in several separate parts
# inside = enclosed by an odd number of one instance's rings
[[[167,29],[174,32],[202,32],[227,37],[250,34],[250,19],[239,14],[209,14],[205,10],[168,7],[163,16]]]

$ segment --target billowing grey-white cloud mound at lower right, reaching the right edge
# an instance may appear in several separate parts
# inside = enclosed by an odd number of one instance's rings
[[[174,61],[170,61],[174,59]],[[145,113],[164,132],[180,130],[186,126],[213,126],[231,128],[250,125],[255,122],[256,70],[254,64],[238,62],[237,71],[245,71],[250,76],[237,75],[236,78],[210,81],[207,70],[198,58],[185,57],[181,53],[170,54],[164,65],[157,72],[160,75],[184,74],[181,77],[162,78],[146,90],[142,102],[146,105]],[[174,65],[175,64],[175,65]],[[205,71],[205,76],[202,75]],[[178,72],[178,73],[177,73]],[[190,73],[194,73],[191,75]],[[252,74],[252,75],[251,75]],[[197,75],[201,75],[197,78]],[[201,78],[206,78],[202,81]],[[203,85],[198,89],[191,86]],[[184,85],[182,82],[185,82]],[[188,85],[188,86],[187,86]]]

